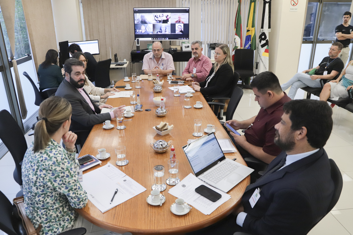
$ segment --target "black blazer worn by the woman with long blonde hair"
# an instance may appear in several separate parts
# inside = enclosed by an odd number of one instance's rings
[[[209,81],[207,87],[206,83],[209,77],[213,74],[214,68],[212,67],[205,81],[199,82],[200,92],[208,97],[220,97],[231,95],[234,84],[234,73],[229,64],[223,64],[213,78]]]

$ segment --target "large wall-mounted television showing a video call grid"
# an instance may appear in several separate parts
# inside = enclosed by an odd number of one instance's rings
[[[133,8],[135,39],[189,39],[189,7]]]

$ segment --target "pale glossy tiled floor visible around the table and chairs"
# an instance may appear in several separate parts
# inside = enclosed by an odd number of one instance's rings
[[[299,90],[296,99],[302,99],[304,91]],[[257,115],[260,107],[255,102],[255,96],[251,90],[244,89],[239,106],[233,118],[244,120]],[[312,99],[318,97],[312,96]],[[341,197],[334,209],[325,216],[313,228],[309,235],[353,235],[353,113],[337,106],[333,108],[334,128],[325,146],[325,150],[340,168],[343,177],[343,189]],[[29,141],[31,137],[26,136]],[[13,180],[14,162],[10,153],[0,160],[0,190],[12,200],[20,190],[18,184]],[[2,231],[0,231],[2,235]]]

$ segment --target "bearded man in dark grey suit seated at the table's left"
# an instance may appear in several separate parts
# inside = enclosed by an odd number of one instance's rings
[[[83,89],[85,82],[85,70],[83,62],[70,58],[65,61],[65,79],[61,82],[55,95],[67,99],[72,106],[70,131],[77,132],[79,144],[83,146],[89,131],[98,123],[111,120],[117,114],[124,112],[125,105],[114,109],[112,112],[101,113],[103,107],[112,108],[111,105],[95,105]]]

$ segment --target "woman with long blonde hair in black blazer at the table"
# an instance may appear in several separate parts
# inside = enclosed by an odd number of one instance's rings
[[[219,44],[215,49],[215,64],[203,82],[193,82],[195,91],[201,92],[207,101],[213,97],[231,95],[234,84],[234,66],[228,45]]]

